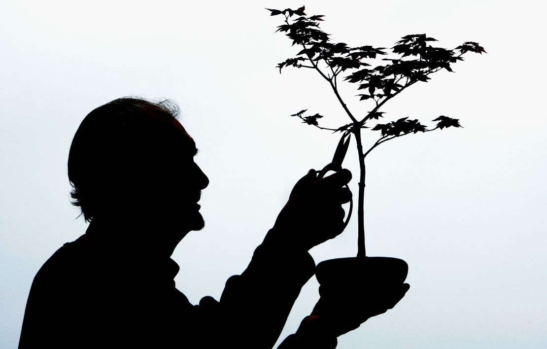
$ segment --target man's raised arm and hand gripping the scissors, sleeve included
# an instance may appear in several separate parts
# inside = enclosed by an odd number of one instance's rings
[[[226,282],[220,302],[202,299],[209,320],[222,317],[213,322],[225,345],[274,346],[302,286],[315,273],[307,251],[343,229],[341,205],[350,200],[343,186],[350,179],[347,170],[322,179],[311,170],[302,177],[247,269]]]

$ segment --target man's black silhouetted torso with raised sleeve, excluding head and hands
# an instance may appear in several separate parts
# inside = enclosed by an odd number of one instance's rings
[[[271,348],[315,269],[307,252],[263,243],[246,271],[226,282],[220,302],[207,296],[192,305],[175,287],[172,259],[121,244],[88,229],[46,261],[28,297],[20,348]]]

